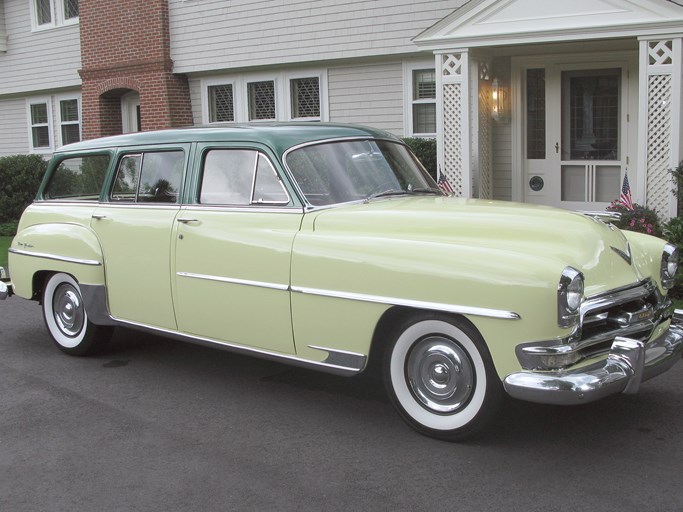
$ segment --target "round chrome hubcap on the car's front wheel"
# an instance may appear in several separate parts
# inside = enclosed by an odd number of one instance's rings
[[[427,409],[449,414],[465,406],[472,395],[475,373],[467,352],[453,340],[429,336],[410,351],[406,378]]]

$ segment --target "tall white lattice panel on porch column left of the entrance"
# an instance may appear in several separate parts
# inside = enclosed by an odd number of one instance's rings
[[[443,86],[444,111],[444,169],[446,179],[453,188],[454,195],[463,195],[463,147],[462,123],[467,122],[463,113],[462,86],[445,84]]]

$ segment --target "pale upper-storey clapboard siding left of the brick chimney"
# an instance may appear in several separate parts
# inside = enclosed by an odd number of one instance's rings
[[[5,0],[7,52],[0,53],[0,97],[79,86],[78,24],[32,31],[28,0]]]

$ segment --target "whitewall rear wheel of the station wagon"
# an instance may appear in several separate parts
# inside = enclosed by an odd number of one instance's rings
[[[111,327],[88,320],[81,289],[68,274],[53,274],[45,283],[43,317],[57,347],[72,356],[93,354],[111,337]]]

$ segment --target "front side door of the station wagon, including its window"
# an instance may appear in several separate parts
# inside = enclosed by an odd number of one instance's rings
[[[294,353],[290,261],[303,210],[266,152],[228,145],[197,153],[193,204],[176,219],[178,329]]]

